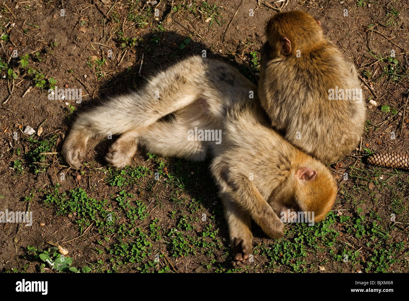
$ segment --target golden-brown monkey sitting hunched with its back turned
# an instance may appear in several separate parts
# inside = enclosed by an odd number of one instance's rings
[[[275,14],[265,28],[258,95],[285,139],[330,164],[350,154],[364,131],[357,71],[303,11]]]

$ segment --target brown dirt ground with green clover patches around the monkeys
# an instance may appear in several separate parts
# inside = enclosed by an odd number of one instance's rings
[[[56,244],[82,272],[243,272],[231,268],[208,162],[142,149],[132,166],[115,172],[103,160],[112,140],[93,139],[76,171],[58,151],[76,112],[202,50],[256,82],[266,20],[300,9],[355,62],[366,102],[377,104],[367,110],[357,150],[330,166],[339,176],[332,213],[314,227],[287,225],[280,240],[254,225],[254,263],[246,272],[409,272],[408,173],[365,160],[371,152],[409,149],[409,2],[154,2],[0,5],[0,211],[33,217],[32,226],[0,223],[0,271],[55,272],[40,255],[56,263],[49,249]],[[49,99],[54,86],[82,89],[82,102]],[[27,126],[35,134],[24,134]]]

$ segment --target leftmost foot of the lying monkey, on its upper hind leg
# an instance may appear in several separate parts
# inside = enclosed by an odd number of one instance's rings
[[[65,138],[61,155],[71,167],[78,169],[82,166],[81,160],[85,156],[86,139],[76,136],[69,134]]]

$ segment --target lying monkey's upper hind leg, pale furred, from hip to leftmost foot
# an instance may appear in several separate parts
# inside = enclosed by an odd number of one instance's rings
[[[158,73],[139,91],[113,97],[84,111],[65,137],[61,150],[65,161],[79,168],[92,136],[123,134],[148,127],[188,106],[202,93],[206,68],[199,56],[185,59]]]

